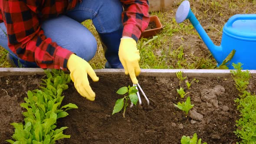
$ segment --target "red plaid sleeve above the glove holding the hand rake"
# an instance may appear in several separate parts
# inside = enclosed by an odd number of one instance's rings
[[[130,36],[137,42],[150,20],[148,0],[121,0],[121,3],[125,9],[122,13],[123,36]]]

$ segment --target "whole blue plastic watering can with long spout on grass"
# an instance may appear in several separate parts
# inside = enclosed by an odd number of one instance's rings
[[[178,7],[175,17],[177,23],[189,19],[206,44],[217,66],[233,51],[236,51],[230,62],[226,63],[229,69],[234,69],[232,63],[241,62],[243,69],[256,69],[256,14],[236,14],[223,27],[220,46],[214,45],[196,16],[190,9],[190,3],[184,0]]]

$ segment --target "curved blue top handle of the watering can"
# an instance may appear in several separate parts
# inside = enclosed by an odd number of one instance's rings
[[[256,14],[236,14],[230,17],[226,26],[232,26],[236,20],[256,20]]]

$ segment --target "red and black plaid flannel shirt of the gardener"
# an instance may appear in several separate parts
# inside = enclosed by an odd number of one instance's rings
[[[46,38],[41,22],[71,10],[81,0],[0,1],[0,23],[4,22],[7,27],[9,48],[21,59],[36,62],[43,69],[66,70],[72,52]],[[123,36],[137,41],[149,23],[148,0],[120,1],[125,8]]]

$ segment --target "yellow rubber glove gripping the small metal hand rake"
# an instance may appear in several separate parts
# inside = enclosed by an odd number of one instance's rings
[[[139,66],[140,52],[136,41],[132,38],[121,38],[118,56],[124,66],[125,74],[129,74],[131,81],[138,84],[136,76],[140,74],[141,68]]]

